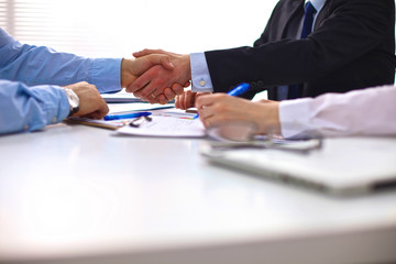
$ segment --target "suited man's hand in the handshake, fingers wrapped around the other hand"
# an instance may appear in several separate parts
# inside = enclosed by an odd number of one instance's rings
[[[189,85],[191,79],[190,58],[189,55],[179,55],[161,50],[144,50],[133,55],[139,59],[154,54],[168,56],[174,69],[154,66],[128,86],[127,91],[133,92],[134,96],[152,103],[164,103],[166,100],[174,99],[176,95],[180,95],[184,87]]]

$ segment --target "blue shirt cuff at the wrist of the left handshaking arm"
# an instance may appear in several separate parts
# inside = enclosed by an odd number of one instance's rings
[[[95,58],[91,69],[91,84],[99,92],[116,92],[121,90],[122,58]]]

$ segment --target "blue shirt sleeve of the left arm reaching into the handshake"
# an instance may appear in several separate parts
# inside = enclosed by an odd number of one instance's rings
[[[28,86],[66,86],[79,81],[100,92],[121,90],[122,58],[86,58],[45,46],[21,44],[0,29],[0,79]]]

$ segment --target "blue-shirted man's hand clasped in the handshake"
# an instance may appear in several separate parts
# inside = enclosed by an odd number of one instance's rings
[[[140,58],[124,58],[121,63],[121,87],[127,88],[132,82],[154,65],[161,65],[165,69],[172,72],[174,65],[170,58],[164,54],[151,54]]]

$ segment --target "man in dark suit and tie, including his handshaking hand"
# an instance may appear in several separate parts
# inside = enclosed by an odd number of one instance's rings
[[[302,36],[308,4],[314,6],[311,33]],[[242,81],[250,82],[252,88],[243,97],[252,98],[267,89],[271,100],[393,84],[395,2],[280,0],[253,47],[190,55],[144,50],[134,56],[152,53],[172,56],[175,70],[153,67],[127,87],[150,102],[173,99],[183,87],[166,87],[188,80],[193,80],[193,91],[210,92],[227,92]],[[199,69],[201,65],[204,69]],[[295,97],[290,97],[292,86],[298,87]],[[194,92],[190,95],[194,97]]]

